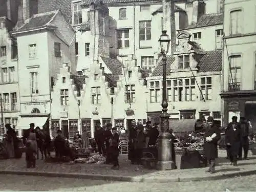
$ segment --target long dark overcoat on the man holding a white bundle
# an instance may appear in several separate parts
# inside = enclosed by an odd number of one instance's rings
[[[212,136],[212,134],[216,134],[217,136],[212,139],[212,141],[207,142],[206,137]],[[204,134],[204,157],[206,159],[216,159],[218,158],[218,140],[220,140],[220,130],[215,125],[212,127],[207,127],[206,132]]]

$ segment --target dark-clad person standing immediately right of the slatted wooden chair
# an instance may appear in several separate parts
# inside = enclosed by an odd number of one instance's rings
[[[131,160],[132,164],[135,164],[136,162],[136,152],[135,152],[135,140],[137,137],[137,126],[136,121],[132,121],[132,126],[129,127],[129,151],[128,151],[128,159]]]

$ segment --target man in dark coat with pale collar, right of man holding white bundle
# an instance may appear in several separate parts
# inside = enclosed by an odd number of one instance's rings
[[[236,122],[231,125],[232,127],[229,127],[225,134],[225,141],[230,163],[237,166],[237,157],[241,141],[241,129]]]

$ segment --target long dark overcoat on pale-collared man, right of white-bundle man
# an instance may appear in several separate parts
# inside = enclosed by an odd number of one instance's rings
[[[241,130],[236,129],[236,131],[231,127],[227,130],[225,134],[225,142],[226,145],[229,143],[230,145],[227,145],[227,149],[229,150],[230,155],[236,156],[239,152],[239,146],[241,141],[242,135]]]

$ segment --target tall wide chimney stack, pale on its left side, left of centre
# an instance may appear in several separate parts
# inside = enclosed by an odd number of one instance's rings
[[[98,56],[110,56],[109,39],[109,8],[102,1],[90,4],[91,42],[90,50],[91,65],[98,60]]]

